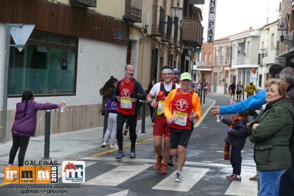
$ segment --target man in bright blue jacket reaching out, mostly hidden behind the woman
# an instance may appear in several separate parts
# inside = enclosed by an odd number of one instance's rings
[[[283,67],[279,64],[272,64],[269,69],[269,79],[275,78],[282,71]],[[246,110],[253,110],[262,106],[266,102],[266,89],[259,91],[256,95],[250,96],[244,101],[233,105],[213,106],[212,115],[237,114]],[[257,181],[258,173],[250,177],[249,180]]]

